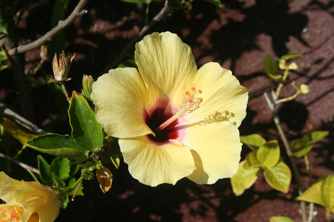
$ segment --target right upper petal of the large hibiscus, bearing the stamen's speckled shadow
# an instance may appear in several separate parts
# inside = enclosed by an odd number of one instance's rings
[[[200,97],[203,102],[199,109],[185,116],[184,121],[207,118],[207,122],[229,121],[236,127],[240,126],[246,116],[248,92],[230,70],[210,62],[203,65],[190,82],[202,90]]]

